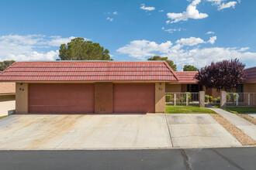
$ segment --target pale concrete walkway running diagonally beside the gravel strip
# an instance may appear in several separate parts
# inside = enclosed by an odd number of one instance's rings
[[[217,114],[220,114],[222,117],[227,119],[227,121],[230,121],[231,124],[234,124],[237,128],[239,128],[241,131],[244,131],[245,134],[256,141],[256,126],[254,124],[251,124],[250,122],[244,120],[242,117],[239,117],[236,114],[232,114],[226,110],[222,110],[210,105],[206,107],[216,111]]]

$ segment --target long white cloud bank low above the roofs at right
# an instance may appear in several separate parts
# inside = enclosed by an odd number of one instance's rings
[[[212,61],[235,58],[240,59],[243,63],[256,63],[256,53],[247,52],[247,49],[249,49],[248,47],[205,48],[202,46],[189,46],[196,44],[197,42],[203,42],[202,39],[198,39],[190,43],[185,42],[185,40],[180,42],[185,44],[177,43],[175,46],[172,46],[172,43],[169,41],[157,44],[156,42],[150,42],[147,40],[136,40],[117,49],[117,52],[128,54],[129,56],[143,60],[154,55],[168,56],[168,59],[172,59],[178,66],[191,64],[193,66],[202,67]],[[185,45],[188,45],[189,47]]]

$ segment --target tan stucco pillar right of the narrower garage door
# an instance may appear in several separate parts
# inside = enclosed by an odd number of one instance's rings
[[[155,113],[165,112],[165,83],[155,83]]]

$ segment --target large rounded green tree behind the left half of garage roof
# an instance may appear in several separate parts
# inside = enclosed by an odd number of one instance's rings
[[[59,57],[57,60],[112,60],[108,49],[80,37],[71,39],[67,44],[61,44]]]

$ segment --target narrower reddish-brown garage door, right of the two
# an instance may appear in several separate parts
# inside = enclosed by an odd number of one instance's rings
[[[114,113],[154,113],[154,83],[113,84]]]

